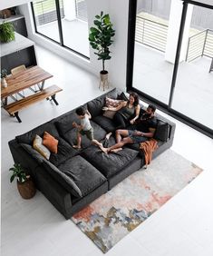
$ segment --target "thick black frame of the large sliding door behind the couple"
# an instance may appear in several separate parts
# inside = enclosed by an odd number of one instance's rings
[[[133,65],[134,65],[134,45],[135,45],[135,26],[136,26],[136,15],[137,15],[137,0],[130,0],[129,1],[129,22],[128,22],[128,44],[127,44],[127,72],[126,72],[126,90],[127,92],[136,92],[140,95],[140,99],[143,100],[145,103],[154,103],[160,111],[169,114],[170,116],[174,117],[175,119],[179,120],[182,123],[186,123],[190,127],[194,128],[200,133],[207,135],[210,138],[213,138],[213,130],[209,127],[198,123],[197,121],[189,118],[189,116],[179,113],[178,111],[171,108],[174,88],[176,84],[176,78],[179,69],[179,53],[181,49],[182,43],[182,35],[185,25],[185,19],[187,15],[188,5],[199,5],[201,7],[206,7],[213,9],[213,5],[206,5],[200,3],[198,1],[192,0],[182,0],[183,1],[183,9],[182,9],[182,16],[180,21],[179,27],[179,40],[176,50],[176,57],[175,57],[175,64],[172,74],[172,81],[170,85],[170,94],[169,94],[169,104],[162,103],[159,100],[151,97],[149,94],[144,94],[140,90],[133,87],[132,78],[133,78]]]

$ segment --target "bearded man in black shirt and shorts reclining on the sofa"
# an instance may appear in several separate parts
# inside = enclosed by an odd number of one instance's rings
[[[128,143],[143,143],[147,138],[154,136],[157,119],[155,117],[156,107],[150,104],[145,113],[141,115],[140,123],[136,125],[136,130],[116,130],[116,144],[105,148],[100,146],[104,153],[116,153],[122,150],[122,146]]]

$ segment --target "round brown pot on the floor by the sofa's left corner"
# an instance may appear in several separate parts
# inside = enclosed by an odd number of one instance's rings
[[[18,182],[17,181],[17,188],[19,193],[24,199],[30,199],[34,197],[36,192],[34,182],[29,178],[26,182]]]

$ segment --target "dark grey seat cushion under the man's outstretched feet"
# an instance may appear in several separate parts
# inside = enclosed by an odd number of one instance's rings
[[[91,162],[106,178],[110,178],[118,172],[121,172],[138,155],[137,151],[130,148],[123,148],[118,153],[102,153],[95,146],[85,149],[81,155]]]

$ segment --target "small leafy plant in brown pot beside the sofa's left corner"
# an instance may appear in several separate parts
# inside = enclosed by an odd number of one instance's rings
[[[20,163],[15,163],[14,167],[10,168],[12,173],[10,182],[13,182],[17,178],[17,188],[19,193],[24,199],[30,199],[34,197],[36,192],[34,182],[29,175],[26,175],[24,169]]]

